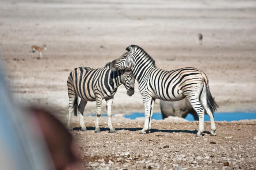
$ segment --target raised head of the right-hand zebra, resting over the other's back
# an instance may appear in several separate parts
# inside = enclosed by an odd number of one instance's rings
[[[118,59],[113,60],[113,62],[110,64],[110,69],[112,71],[117,71],[117,70],[131,70],[132,68],[132,61],[133,61],[133,56],[135,55],[136,51],[136,45],[131,45],[126,48],[127,52],[125,52],[121,57]],[[135,49],[136,48],[136,49]]]

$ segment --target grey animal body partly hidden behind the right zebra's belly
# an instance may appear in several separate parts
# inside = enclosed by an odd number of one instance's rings
[[[175,102],[160,100],[160,108],[163,119],[168,116],[185,118],[189,113],[191,113],[195,120],[199,120],[196,111],[192,108],[187,98]]]

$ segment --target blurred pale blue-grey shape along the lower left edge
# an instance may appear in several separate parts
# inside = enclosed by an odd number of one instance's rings
[[[32,129],[38,127],[32,126],[28,115],[13,102],[0,72],[0,169],[53,169],[44,139]]]

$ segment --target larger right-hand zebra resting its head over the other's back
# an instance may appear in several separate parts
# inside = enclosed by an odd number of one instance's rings
[[[204,131],[204,109],[210,116],[211,135],[216,135],[213,112],[218,108],[211,95],[208,79],[203,71],[193,68],[180,68],[165,71],[155,66],[155,61],[141,47],[131,45],[120,58],[112,61],[113,71],[131,69],[139,83],[139,91],[145,107],[144,128],[140,134],[151,129],[155,99],[177,101],[185,97],[199,115],[199,131],[196,137],[202,137]]]

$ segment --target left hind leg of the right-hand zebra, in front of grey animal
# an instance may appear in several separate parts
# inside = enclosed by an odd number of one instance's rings
[[[196,137],[202,137],[202,132],[204,131],[204,108],[202,107],[198,98],[192,99],[189,96],[187,96],[187,98],[188,98],[188,101],[191,103],[191,106],[199,116],[199,130],[196,134]]]

